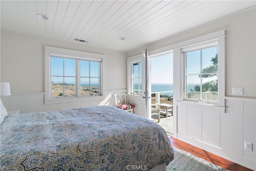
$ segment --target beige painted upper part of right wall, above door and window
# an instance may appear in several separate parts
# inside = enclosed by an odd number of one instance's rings
[[[226,95],[232,96],[232,86],[241,86],[244,87],[244,97],[256,97],[255,16],[254,8],[131,51],[127,57],[141,54],[145,48],[150,54],[156,49],[226,30]]]

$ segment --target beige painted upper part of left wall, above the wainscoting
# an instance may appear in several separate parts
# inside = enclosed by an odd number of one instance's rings
[[[44,92],[44,46],[106,55],[106,89],[126,89],[126,54],[1,30],[1,81],[13,93]],[[118,81],[117,81],[118,80]]]

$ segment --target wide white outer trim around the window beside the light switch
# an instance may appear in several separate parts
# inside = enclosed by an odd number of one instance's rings
[[[192,39],[189,41],[185,41],[182,43],[178,43],[173,45],[174,48],[174,70],[180,71],[180,74],[174,75],[174,81],[176,81],[176,85],[174,86],[174,91],[181,92],[180,94],[176,94],[175,100],[177,102],[188,102],[185,97],[185,69],[184,69],[184,61],[182,60],[182,49],[189,50],[189,48],[194,49],[194,46],[198,46],[198,48],[204,43],[209,43],[212,41],[218,41],[218,104],[203,104],[205,106],[218,106],[221,108],[216,108],[217,111],[225,112],[225,30],[219,31],[216,33],[212,33],[209,35],[205,35],[202,37],[198,37],[196,39]],[[198,103],[198,102],[197,102]]]

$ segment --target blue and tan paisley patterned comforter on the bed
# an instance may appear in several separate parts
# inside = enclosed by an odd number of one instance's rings
[[[174,158],[162,127],[112,106],[16,114],[0,131],[3,171],[149,170]]]

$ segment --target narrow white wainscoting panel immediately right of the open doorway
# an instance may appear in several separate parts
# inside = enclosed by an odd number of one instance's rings
[[[187,135],[187,107],[178,106],[177,110],[177,132]]]

